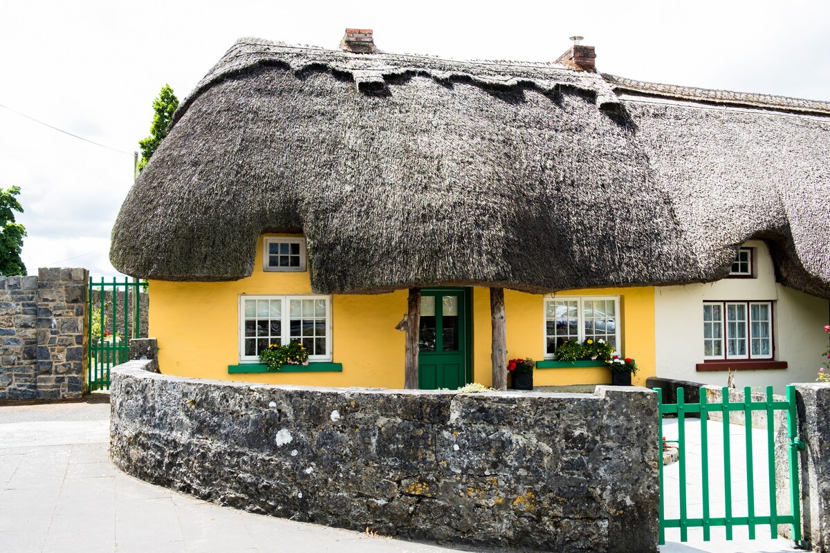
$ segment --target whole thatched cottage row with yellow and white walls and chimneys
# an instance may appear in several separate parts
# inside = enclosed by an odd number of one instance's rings
[[[451,61],[364,29],[341,48],[237,41],[129,192],[110,259],[150,280],[162,372],[454,388],[533,357],[537,386],[605,383],[555,360],[593,338],[635,384],[813,380],[830,104],[602,75],[579,44]],[[308,366],[259,365],[294,340]]]

